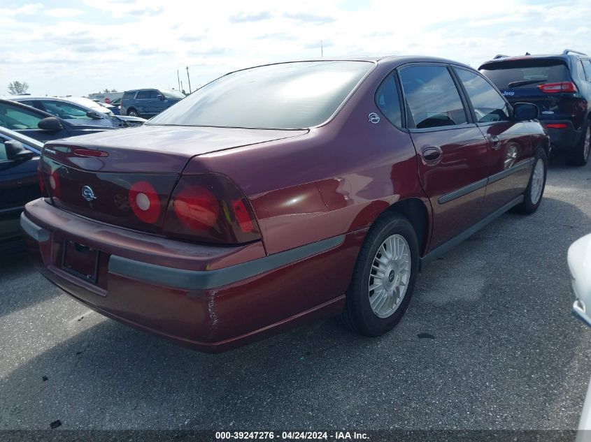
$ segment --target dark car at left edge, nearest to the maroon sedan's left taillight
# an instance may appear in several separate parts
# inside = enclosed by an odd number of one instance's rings
[[[0,250],[22,246],[20,214],[41,196],[37,165],[43,143],[0,127]]]

